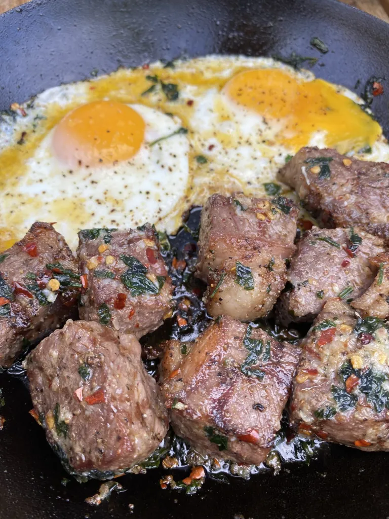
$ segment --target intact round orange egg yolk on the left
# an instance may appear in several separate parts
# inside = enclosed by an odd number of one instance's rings
[[[127,160],[140,149],[143,118],[116,101],[94,101],[65,115],[55,127],[53,149],[70,167],[99,166]]]

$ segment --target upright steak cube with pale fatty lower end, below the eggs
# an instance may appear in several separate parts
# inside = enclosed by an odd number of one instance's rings
[[[284,197],[212,195],[201,213],[197,275],[207,311],[249,321],[266,316],[286,282],[298,209]]]

